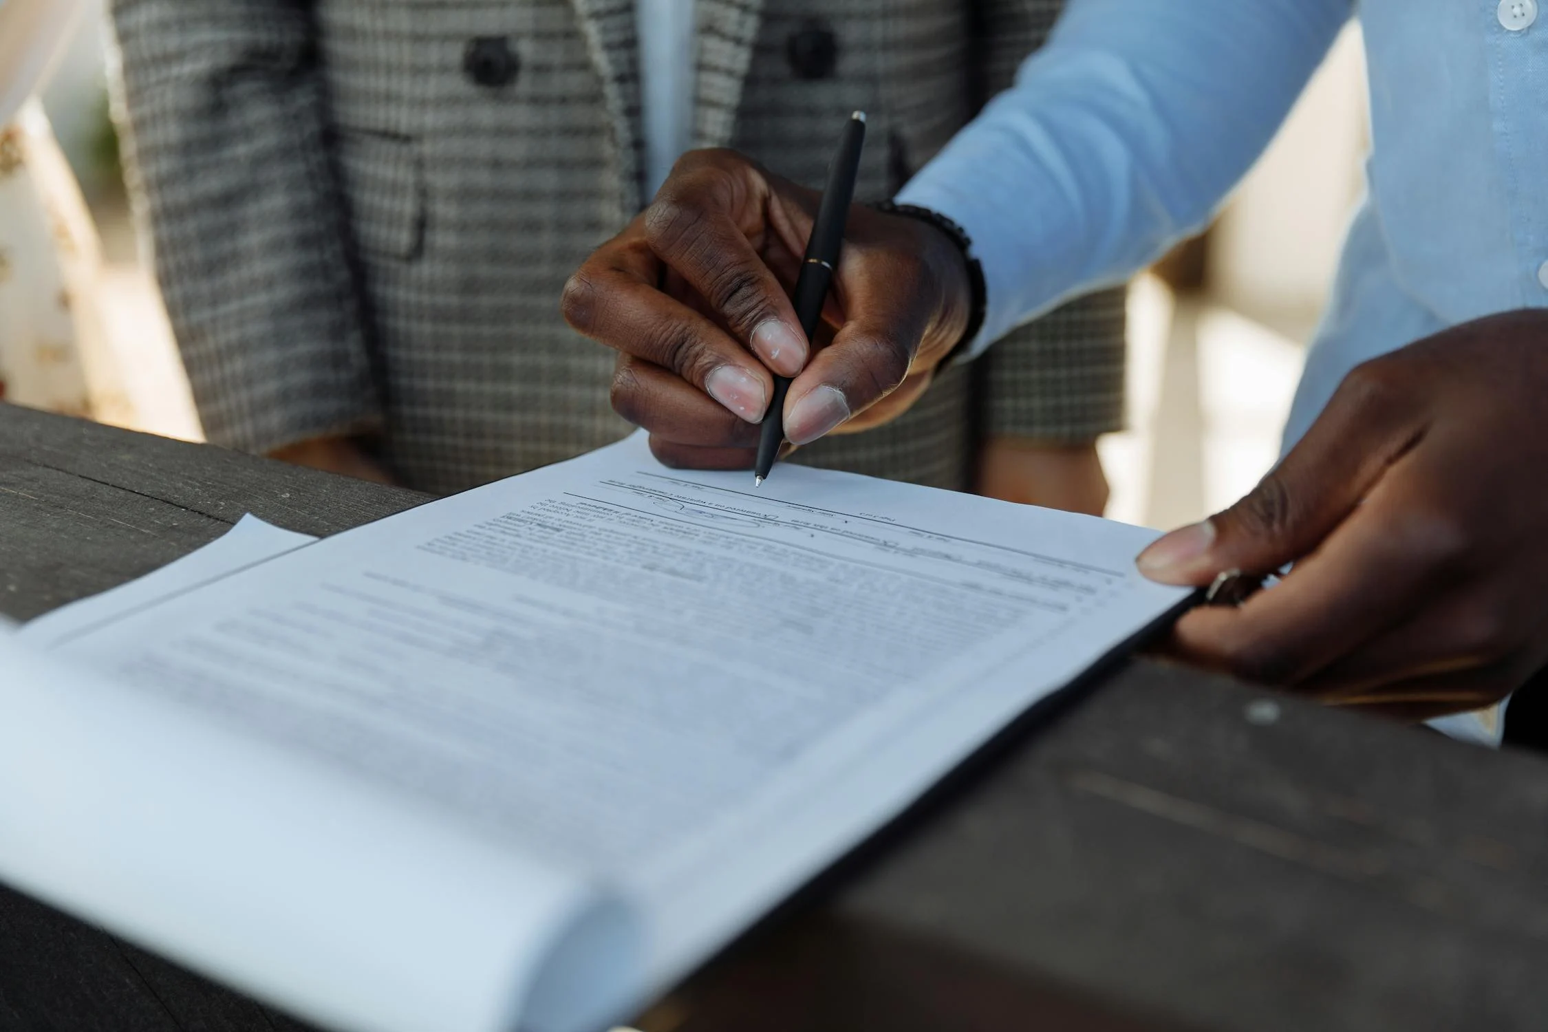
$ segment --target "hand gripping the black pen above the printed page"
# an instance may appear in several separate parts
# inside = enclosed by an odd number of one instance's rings
[[[817,330],[831,342],[813,350],[789,294],[820,201],[735,152],[692,152],[565,286],[570,323],[621,353],[613,407],[663,463],[752,469],[776,374],[791,378],[791,444],[879,425],[961,340],[972,300],[958,244],[851,206]]]

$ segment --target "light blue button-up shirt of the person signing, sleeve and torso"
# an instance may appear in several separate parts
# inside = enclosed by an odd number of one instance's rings
[[[977,347],[1201,229],[1356,12],[1368,190],[1286,444],[1359,362],[1548,305],[1548,0],[1071,0],[899,196],[972,237]]]

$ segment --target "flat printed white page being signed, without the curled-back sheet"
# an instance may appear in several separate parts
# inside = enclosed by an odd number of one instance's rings
[[[642,438],[71,639],[147,695],[644,900],[655,981],[1184,591],[1150,531]]]

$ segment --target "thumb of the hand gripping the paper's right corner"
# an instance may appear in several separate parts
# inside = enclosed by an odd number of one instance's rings
[[[1378,361],[1350,373],[1307,436],[1251,494],[1150,545],[1136,560],[1139,572],[1204,586],[1231,569],[1268,574],[1314,551],[1423,436],[1415,405],[1384,370]]]

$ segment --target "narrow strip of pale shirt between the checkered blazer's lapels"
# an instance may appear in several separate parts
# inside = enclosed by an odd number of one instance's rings
[[[694,141],[694,0],[635,0],[646,200]]]

